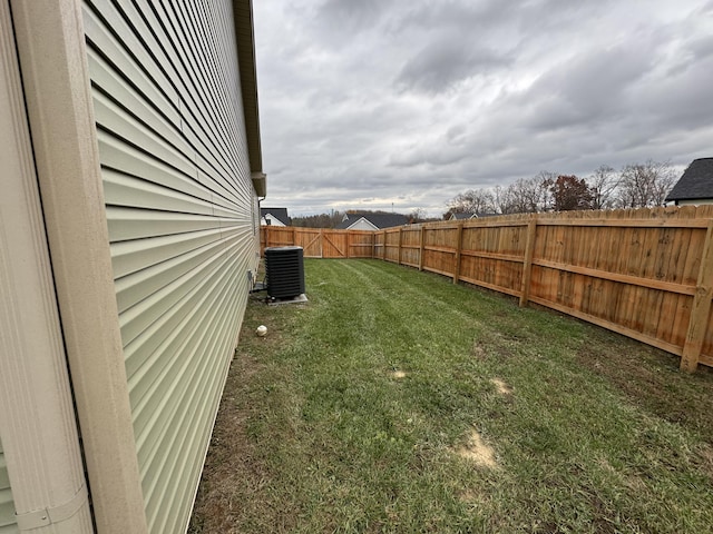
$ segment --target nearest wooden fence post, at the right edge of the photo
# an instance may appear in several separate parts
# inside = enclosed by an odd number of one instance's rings
[[[691,319],[686,340],[681,355],[681,370],[695,372],[699,367],[699,358],[703,348],[709,317],[711,315],[711,297],[713,296],[713,221],[709,222],[701,256],[699,280],[693,296]]]

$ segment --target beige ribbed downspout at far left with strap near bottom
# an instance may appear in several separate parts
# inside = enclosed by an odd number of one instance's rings
[[[14,31],[0,1],[0,435],[20,532],[94,533]]]

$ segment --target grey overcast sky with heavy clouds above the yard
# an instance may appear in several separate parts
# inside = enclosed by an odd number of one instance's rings
[[[256,0],[267,198],[431,216],[540,170],[713,156],[713,0]]]

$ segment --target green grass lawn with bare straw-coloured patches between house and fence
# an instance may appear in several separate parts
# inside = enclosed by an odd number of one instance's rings
[[[191,533],[713,532],[713,373],[379,260],[305,273],[247,307]]]

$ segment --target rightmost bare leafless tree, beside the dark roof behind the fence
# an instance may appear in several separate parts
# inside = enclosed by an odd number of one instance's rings
[[[676,182],[670,162],[629,164],[622,169],[617,207],[646,208],[662,206]]]

